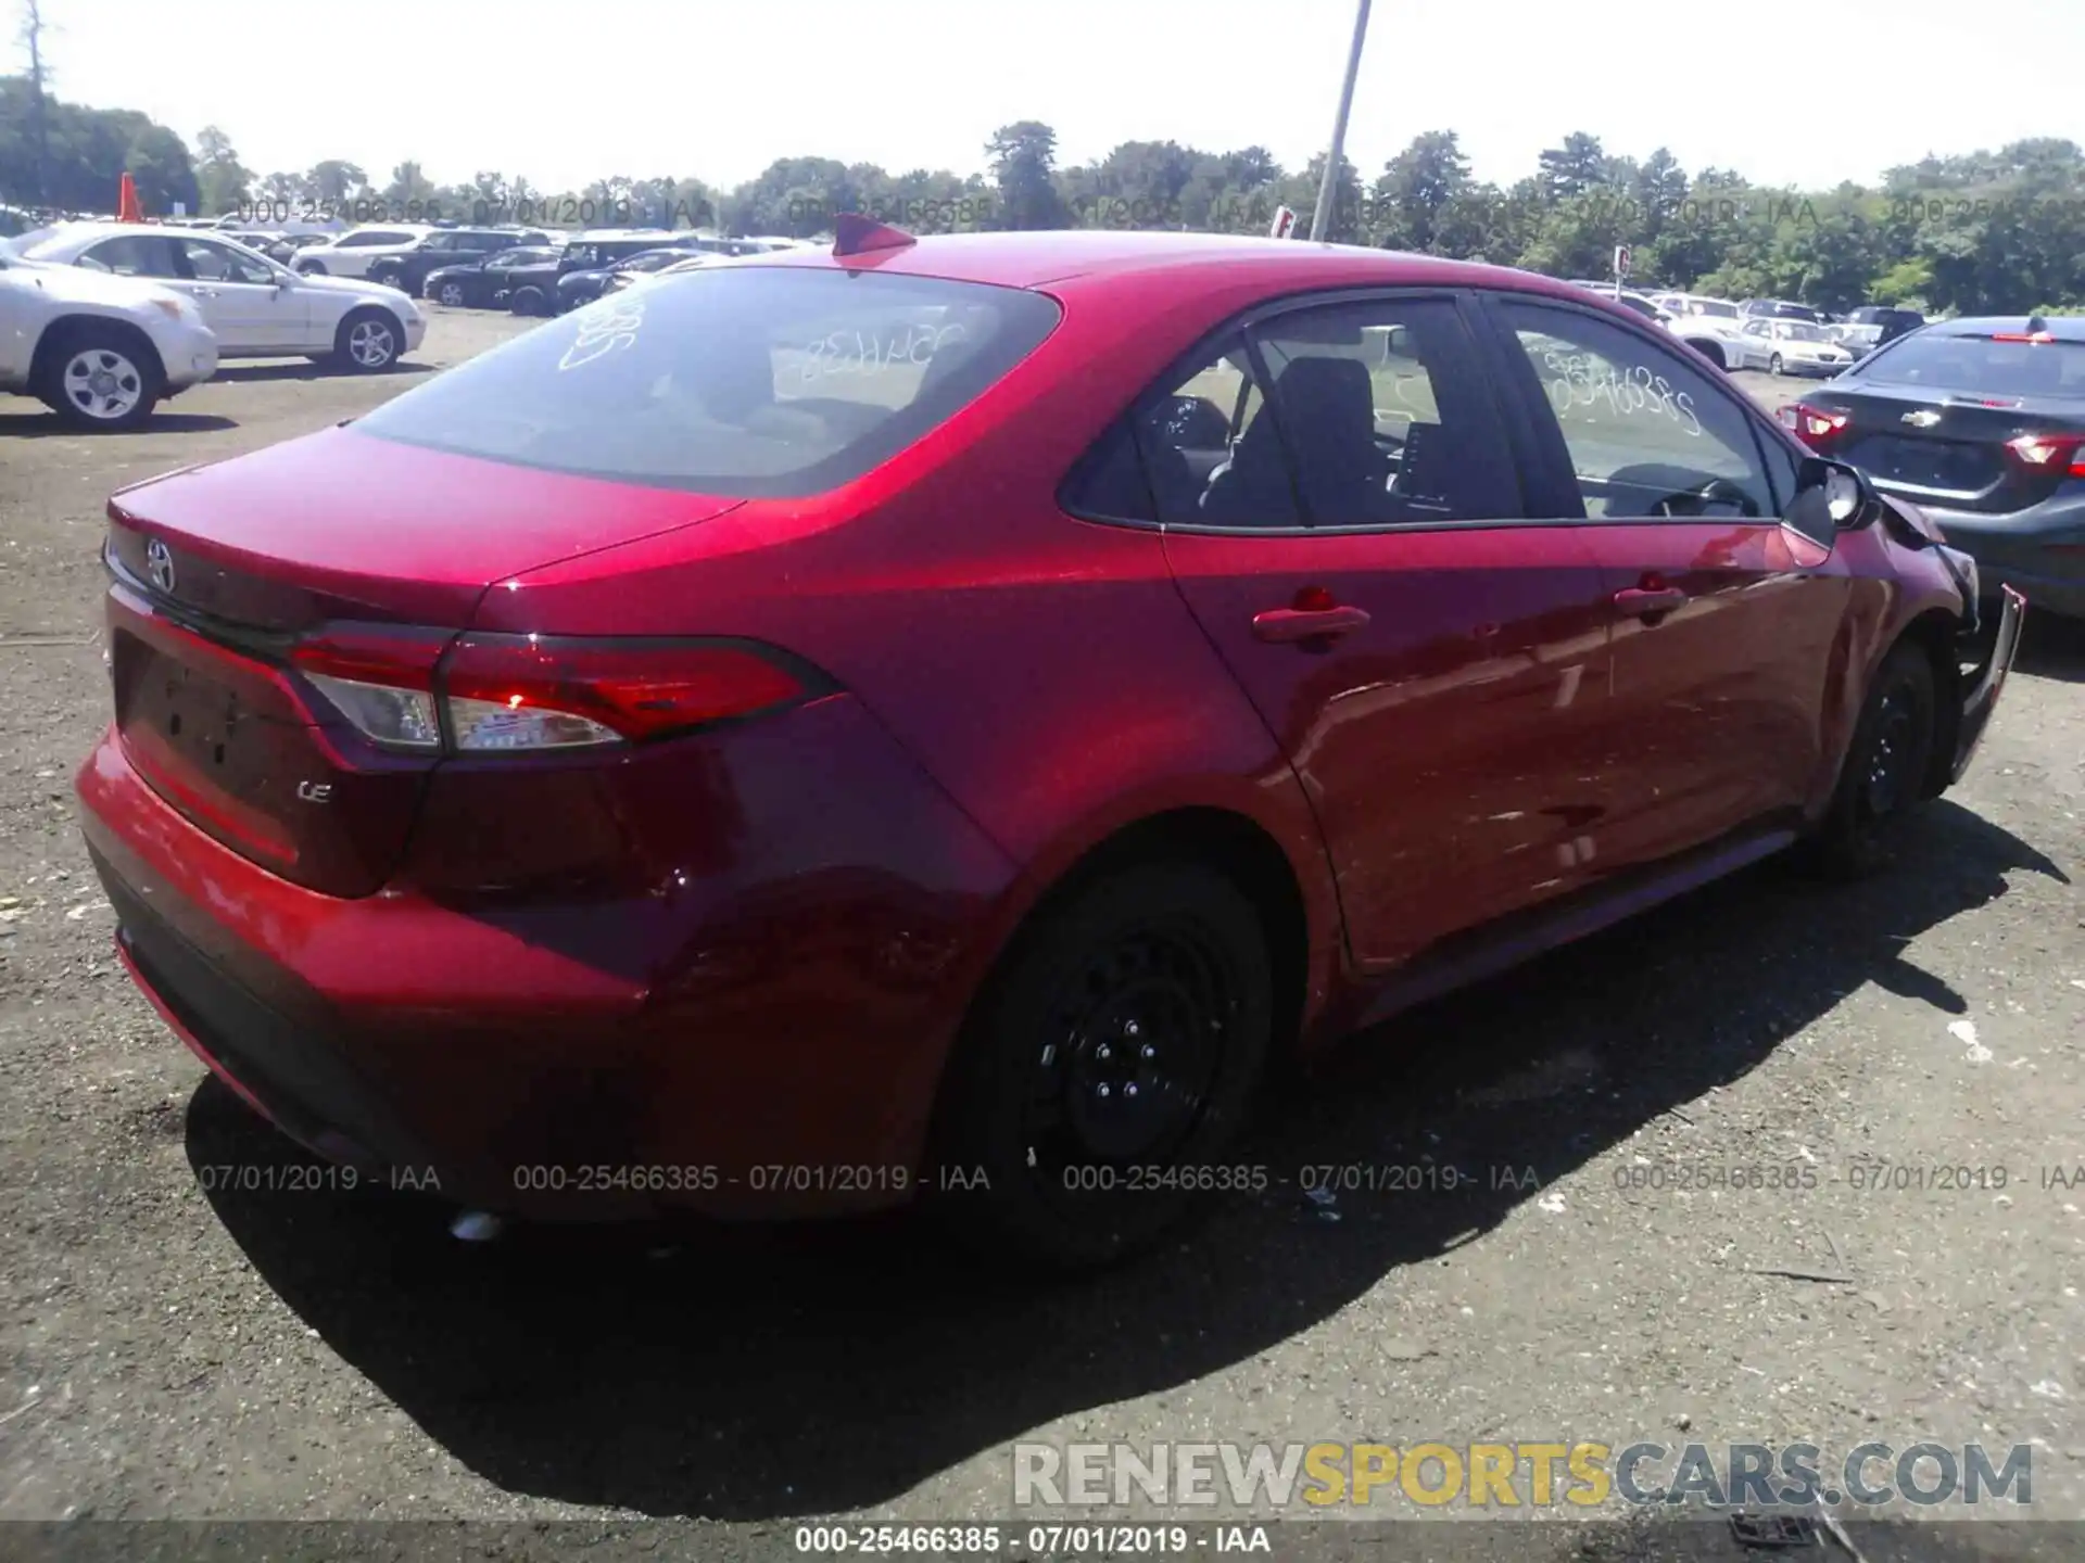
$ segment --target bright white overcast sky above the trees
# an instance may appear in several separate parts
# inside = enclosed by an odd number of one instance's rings
[[[1053,125],[1068,165],[1176,140],[1259,144],[1299,169],[1330,140],[1355,15],[1353,0],[42,4],[58,96],[142,108],[190,146],[215,123],[254,173],[338,156],[382,185],[415,158],[436,183],[488,169],[538,190],[730,188],[811,154],[970,173],[1015,119]],[[2004,0],[2020,69],[1997,65],[1995,38],[1949,63],[1968,42],[1960,0],[1810,15],[1374,0],[1347,156],[1374,177],[1416,133],[1453,129],[1476,177],[1507,183],[1585,129],[1610,152],[1668,146],[1689,171],[1814,190],[1927,152],[2085,140],[2085,94],[2047,65],[2072,54],[2079,0]]]

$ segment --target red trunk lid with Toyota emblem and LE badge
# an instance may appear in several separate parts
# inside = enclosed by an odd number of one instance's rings
[[[371,744],[296,671],[296,648],[375,638],[432,669],[488,588],[736,504],[352,429],[125,490],[106,544],[123,750],[244,857],[373,894],[440,756]]]

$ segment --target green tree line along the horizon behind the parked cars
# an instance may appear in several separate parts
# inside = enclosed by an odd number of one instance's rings
[[[302,213],[404,221],[532,225],[667,223],[728,233],[813,238],[834,215],[863,210],[919,233],[1047,227],[1138,227],[1266,233],[1280,206],[1307,227],[1324,158],[1284,169],[1266,148],[1209,152],[1178,142],[1124,142],[1095,163],[1063,165],[1038,121],[1001,127],[976,173],[778,158],[723,190],[696,177],[607,177],[540,190],[496,171],[438,183],[419,163],[379,179],[346,158],[254,173],[206,127],[190,148],[131,110],[83,108],[0,79],[0,200],[111,210],[129,171],[148,213],[181,202],[196,215]],[[1330,231],[1345,244],[1491,260],[1557,277],[1610,275],[1630,250],[1630,283],[1726,298],[1799,298],[1822,308],[1910,304],[1929,313],[2085,308],[2085,152],[2041,138],[1995,152],[1927,156],[1874,185],[1753,185],[1735,169],[1689,173],[1670,150],[1608,152],[1585,131],[1541,152],[1526,177],[1499,185],[1470,173],[1455,131],[1426,131],[1364,179],[1347,158],[1334,177]]]

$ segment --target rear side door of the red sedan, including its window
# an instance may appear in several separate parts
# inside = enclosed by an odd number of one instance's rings
[[[1576,886],[1608,807],[1608,617],[1449,292],[1276,308],[1136,440],[1188,606],[1318,809],[1353,957],[1389,967]]]

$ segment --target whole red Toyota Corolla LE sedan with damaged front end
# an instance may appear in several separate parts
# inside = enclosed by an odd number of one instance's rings
[[[108,517],[85,836],[256,1111],[1055,1263],[1278,1050],[1870,859],[2022,613],[1583,290],[1172,233],[851,219]]]

